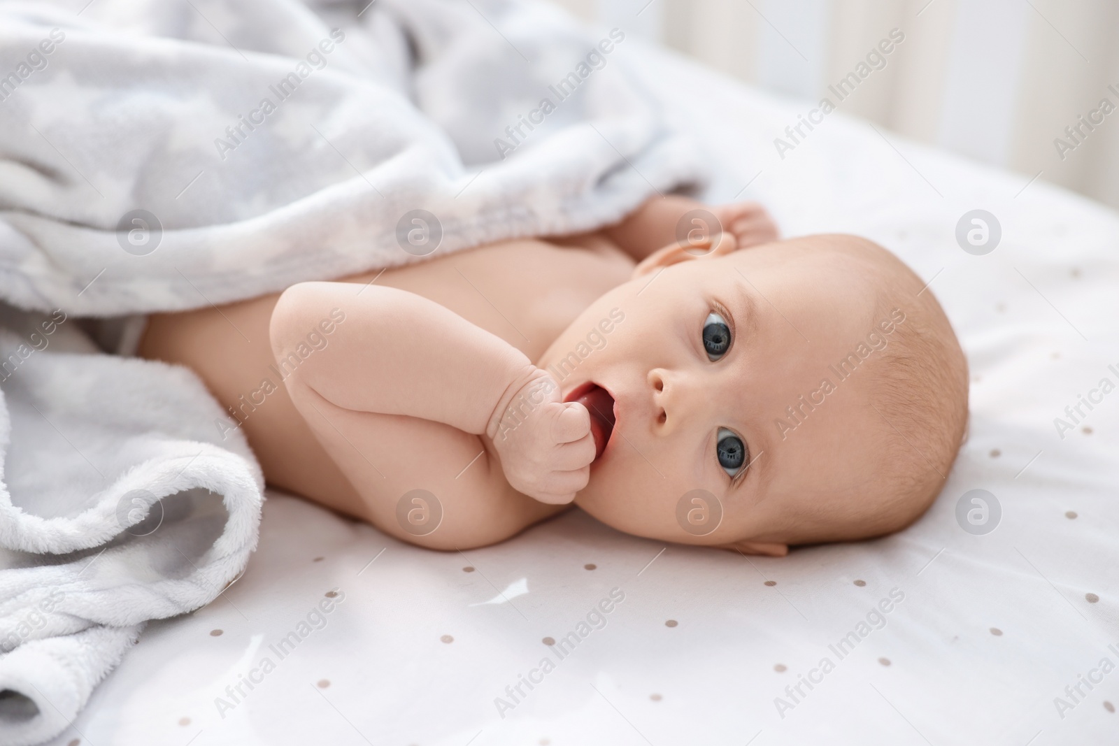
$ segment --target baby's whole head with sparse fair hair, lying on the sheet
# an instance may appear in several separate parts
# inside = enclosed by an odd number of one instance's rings
[[[660,249],[540,359],[565,400],[617,416],[575,502],[751,554],[910,525],[967,424],[967,361],[932,292],[856,236],[724,247]]]

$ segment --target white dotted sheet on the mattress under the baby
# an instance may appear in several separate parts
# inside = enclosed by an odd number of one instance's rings
[[[784,558],[580,511],[436,553],[272,492],[244,576],[150,624],[55,743],[1116,743],[1117,215],[841,105],[778,148],[812,102],[629,54],[718,164],[707,199],[867,236],[930,283],[971,366],[931,510]],[[972,210],[997,221],[986,245]]]

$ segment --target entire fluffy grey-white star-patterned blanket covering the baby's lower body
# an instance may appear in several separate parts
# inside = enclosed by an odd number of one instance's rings
[[[76,319],[591,229],[697,182],[626,44],[506,0],[0,3],[0,301],[35,312],[0,336],[0,743],[63,730],[256,541],[260,469],[200,383]]]

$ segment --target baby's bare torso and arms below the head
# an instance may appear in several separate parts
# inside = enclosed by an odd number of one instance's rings
[[[567,405],[563,408],[576,412],[565,416],[571,432],[563,445],[572,446],[567,453],[573,460],[565,465],[574,468],[548,473],[561,481],[563,472],[574,476],[557,488],[545,475],[544,481],[526,487],[534,497],[511,487],[506,472],[513,461],[524,462],[521,471],[530,479],[536,462],[534,454],[509,453],[502,460],[492,435],[486,434],[493,409],[514,385],[500,380],[501,375],[525,372],[520,366],[540,360],[595,301],[631,280],[638,262],[674,243],[680,216],[697,207],[684,198],[658,198],[622,224],[593,234],[504,242],[337,283],[304,283],[295,286],[302,290],[289,291],[294,308],[279,320],[274,311],[280,294],[156,314],[140,355],[194,369],[225,407],[235,409],[271,484],[421,546],[451,549],[492,544],[566,509],[586,485],[594,455],[585,410],[580,414],[581,405]],[[723,251],[775,238],[772,221],[756,205],[711,209],[727,230]],[[383,298],[393,290],[404,293]],[[378,302],[392,305],[405,294],[431,306],[438,304],[453,317],[451,323],[463,324],[458,339],[469,338],[461,356],[446,367],[441,363],[439,376],[460,383],[469,379],[464,369],[479,358],[476,343],[488,346],[498,365],[482,367],[476,384],[496,391],[483,393],[493,400],[483,400],[486,396],[472,390],[459,404],[441,405],[449,412],[424,412],[432,396],[414,386],[414,371],[389,365],[378,377],[369,375],[369,366],[378,358],[364,359],[361,353],[370,355],[367,332],[377,323],[375,315],[363,314],[379,313],[385,305]],[[330,318],[336,308],[346,314],[340,323]],[[427,311],[420,308],[417,312]],[[332,327],[330,333],[320,325],[323,321]],[[423,356],[422,340],[407,336],[407,321],[402,328],[411,347],[404,349]],[[314,350],[281,384],[273,368],[278,363],[274,346],[281,352],[290,350],[311,332],[326,347]],[[394,377],[395,389],[389,381]],[[265,379],[275,386],[262,387]],[[408,386],[411,394],[405,391]],[[392,391],[379,410],[360,396],[386,389]],[[463,403],[477,404],[477,410]],[[521,434],[530,431],[518,429]],[[397,520],[398,500],[415,488],[438,495],[442,506],[439,529],[426,536],[405,531]]]

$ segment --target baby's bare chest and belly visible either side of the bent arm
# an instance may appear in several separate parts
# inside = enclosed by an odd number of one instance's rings
[[[387,270],[376,284],[429,298],[535,361],[586,305],[628,280],[631,268],[630,259],[609,252],[519,240]],[[365,284],[376,275],[341,281]],[[228,437],[236,425],[271,484],[359,514],[360,498],[295,409],[275,368],[269,322],[278,299],[154,314],[140,355],[192,368],[231,412],[232,419],[215,424],[215,433]]]

